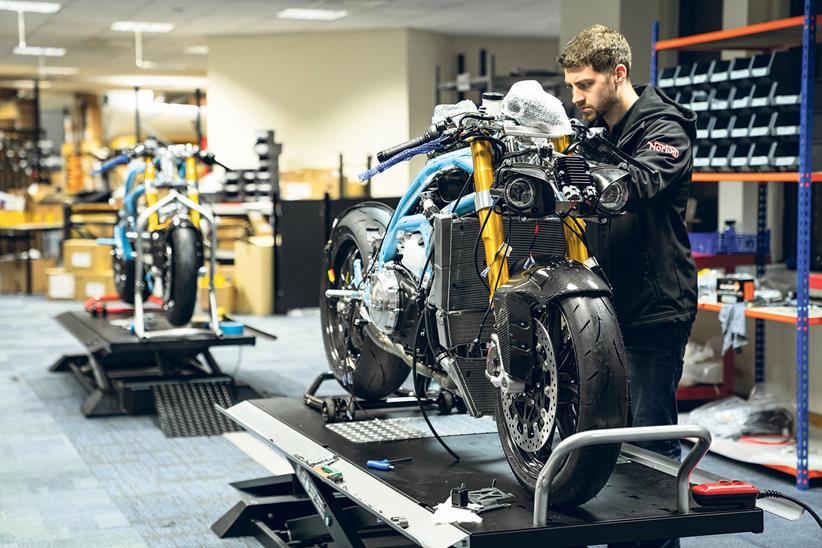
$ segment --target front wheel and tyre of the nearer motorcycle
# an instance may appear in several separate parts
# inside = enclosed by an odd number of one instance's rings
[[[624,427],[628,414],[625,350],[606,297],[575,295],[534,318],[535,356],[525,392],[497,391],[497,429],[517,480],[533,493],[552,445],[577,432]],[[619,444],[574,451],[551,483],[552,506],[593,498],[613,472]]]

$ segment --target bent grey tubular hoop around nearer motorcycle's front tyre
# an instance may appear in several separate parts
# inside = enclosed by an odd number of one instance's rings
[[[690,511],[689,480],[691,472],[711,446],[711,433],[707,428],[696,425],[639,426],[632,428],[609,428],[580,432],[562,440],[553,450],[548,462],[537,478],[534,490],[534,525],[544,527],[548,521],[548,496],[551,481],[559,472],[565,459],[572,451],[591,445],[622,443],[632,441],[661,441],[681,438],[697,438],[696,445],[682,461],[676,475],[676,507],[679,513]]]

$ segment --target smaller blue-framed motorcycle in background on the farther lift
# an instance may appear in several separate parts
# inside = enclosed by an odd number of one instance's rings
[[[95,174],[103,173],[131,163],[123,207],[114,227],[112,266],[117,294],[135,306],[135,332],[141,338],[148,338],[143,303],[158,282],[168,322],[173,326],[190,322],[197,301],[197,274],[205,256],[201,220],[211,234],[211,248],[217,249],[214,216],[199,201],[198,160],[206,165],[218,163],[211,153],[197,147],[160,146],[154,139],[148,139],[95,169]],[[142,184],[137,184],[140,175]],[[162,198],[161,190],[166,191]],[[142,197],[145,207],[140,210]],[[210,325],[218,332],[213,291],[215,261],[211,253]]]

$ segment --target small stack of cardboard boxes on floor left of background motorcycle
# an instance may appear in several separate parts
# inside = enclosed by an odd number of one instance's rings
[[[49,298],[84,300],[114,292],[111,248],[95,240],[65,240],[63,268],[49,271]]]

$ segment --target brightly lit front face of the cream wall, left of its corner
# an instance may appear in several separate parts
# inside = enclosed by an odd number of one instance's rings
[[[219,36],[208,46],[209,147],[229,165],[257,165],[261,129],[283,144],[283,170],[334,168],[339,153],[363,165],[408,138],[405,30]],[[395,195],[407,178],[397,166],[374,193]]]

